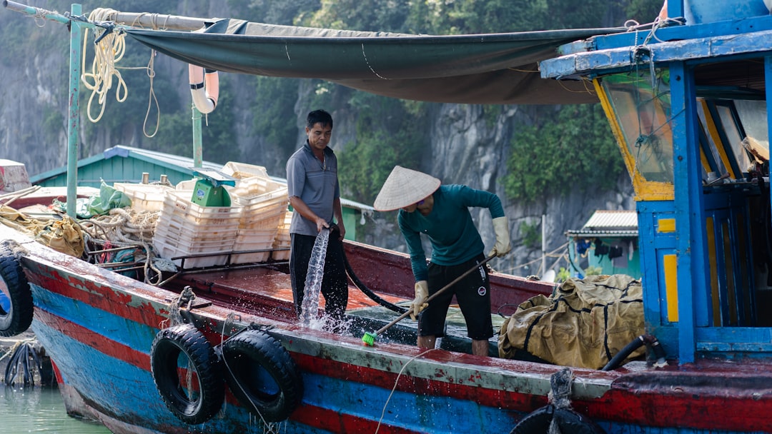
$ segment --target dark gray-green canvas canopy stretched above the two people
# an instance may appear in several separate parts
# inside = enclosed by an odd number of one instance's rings
[[[541,79],[559,45],[621,29],[406,35],[220,19],[202,32],[126,29],[174,59],[220,72],[324,79],[436,103],[594,103],[586,82]]]

